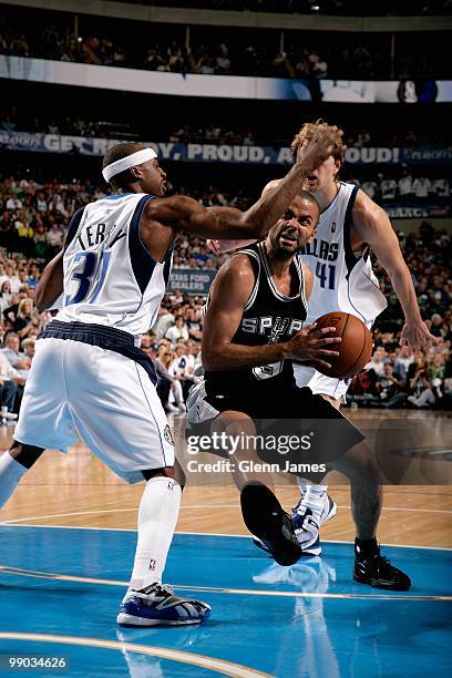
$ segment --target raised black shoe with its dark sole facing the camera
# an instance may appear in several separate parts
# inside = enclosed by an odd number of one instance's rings
[[[266,485],[247,483],[240,493],[245,525],[279,565],[294,565],[302,555],[290,515]]]

